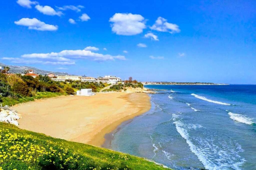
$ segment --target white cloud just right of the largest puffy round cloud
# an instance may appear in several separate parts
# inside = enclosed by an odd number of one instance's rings
[[[178,33],[180,32],[179,26],[176,24],[168,23],[166,19],[158,17],[155,24],[150,27],[152,30],[169,32],[169,33]]]

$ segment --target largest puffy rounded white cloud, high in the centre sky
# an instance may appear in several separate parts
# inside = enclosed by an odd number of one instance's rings
[[[144,17],[138,14],[115,13],[110,19],[112,31],[118,35],[136,35],[146,28]]]

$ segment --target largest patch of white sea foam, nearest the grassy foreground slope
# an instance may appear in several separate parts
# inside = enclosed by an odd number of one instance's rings
[[[229,148],[227,148],[228,145],[222,148],[214,145],[213,143],[209,143],[201,138],[191,138],[188,134],[188,130],[186,129],[188,127],[188,124],[186,125],[180,120],[173,123],[175,124],[176,130],[180,134],[180,136],[182,136],[186,140],[186,143],[189,145],[191,152],[193,152],[197,156],[198,160],[202,162],[206,169],[241,169],[239,166],[241,166],[245,162],[245,160],[237,154],[237,151],[234,151],[232,149],[230,150]],[[198,125],[195,125],[195,127],[198,127]],[[197,142],[197,145],[192,142],[192,139]],[[237,162],[234,158],[238,159]]]

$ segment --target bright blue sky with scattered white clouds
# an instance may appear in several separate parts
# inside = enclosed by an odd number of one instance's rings
[[[140,81],[256,84],[256,1],[15,0],[0,6],[5,64]]]

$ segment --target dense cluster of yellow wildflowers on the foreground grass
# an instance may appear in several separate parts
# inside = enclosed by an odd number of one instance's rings
[[[63,165],[65,165],[70,161],[77,162],[79,158],[76,153],[73,153],[72,156],[67,156],[68,149],[54,146],[57,142],[47,141],[47,148],[35,143],[35,137],[32,135],[18,135],[17,133],[9,133],[8,129],[0,129],[0,170],[2,168],[1,165],[11,162],[10,160],[12,159],[27,162],[28,164],[34,164],[39,161],[55,164],[55,161],[51,160],[51,158],[54,158],[64,162]],[[28,169],[30,168],[28,167]],[[60,165],[60,168],[63,168],[63,166]]]

